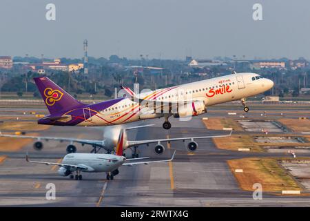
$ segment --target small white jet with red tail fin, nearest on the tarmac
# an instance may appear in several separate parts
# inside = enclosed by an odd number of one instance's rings
[[[61,163],[54,162],[41,162],[29,160],[28,154],[26,155],[27,162],[35,164],[56,165],[59,166],[58,174],[61,176],[70,175],[70,179],[82,180],[81,172],[88,173],[107,173],[107,180],[113,180],[115,175],[118,175],[118,168],[120,166],[134,166],[138,164],[150,164],[156,162],[169,162],[174,159],[174,154],[169,160],[155,160],[155,161],[139,161],[149,157],[141,157],[135,159],[127,159],[123,156],[123,145],[125,144],[124,133],[121,131],[118,137],[116,146],[116,154],[101,154],[101,153],[69,153],[63,157]],[[127,162],[129,161],[129,162]],[[76,173],[74,176],[73,173]]]

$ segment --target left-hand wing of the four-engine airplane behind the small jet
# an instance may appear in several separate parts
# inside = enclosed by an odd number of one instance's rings
[[[39,136],[28,136],[28,135],[12,135],[12,134],[3,134],[0,132],[0,137],[16,137],[16,138],[31,138],[31,139],[37,139],[37,140],[58,140],[60,142],[66,141],[66,142],[76,142],[79,144],[90,144],[90,145],[96,145],[96,146],[105,146],[104,140],[82,140],[82,139],[76,139],[76,138],[68,138],[68,137],[39,137]]]

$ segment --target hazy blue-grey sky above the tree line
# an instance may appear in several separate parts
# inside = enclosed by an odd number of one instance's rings
[[[309,0],[1,0],[0,21],[0,55],[310,59]]]

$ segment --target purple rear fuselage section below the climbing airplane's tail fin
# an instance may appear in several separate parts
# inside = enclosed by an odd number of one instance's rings
[[[76,108],[76,109],[62,111],[54,115],[48,115],[46,117],[43,117],[38,120],[38,124],[50,124],[50,125],[57,125],[57,126],[75,126],[76,124],[80,124],[81,122],[85,121],[84,111],[83,111],[85,108],[87,109],[90,108],[91,110],[90,115],[93,116],[93,115],[96,115],[96,112],[103,111],[106,108],[109,108],[110,106],[118,102],[121,102],[123,99],[125,98],[122,97],[118,99],[111,99],[106,102],[100,102],[96,104],[85,104],[84,106],[80,106],[79,108]],[[54,120],[46,119],[46,118],[52,118],[52,117],[59,117],[61,115],[71,115],[72,119],[68,122],[57,122]],[[90,115],[87,115],[87,118],[89,118]]]

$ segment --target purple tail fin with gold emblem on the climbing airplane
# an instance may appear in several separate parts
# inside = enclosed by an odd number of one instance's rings
[[[34,82],[37,84],[50,114],[68,111],[84,105],[66,93],[63,88],[59,87],[48,77],[34,77]]]

